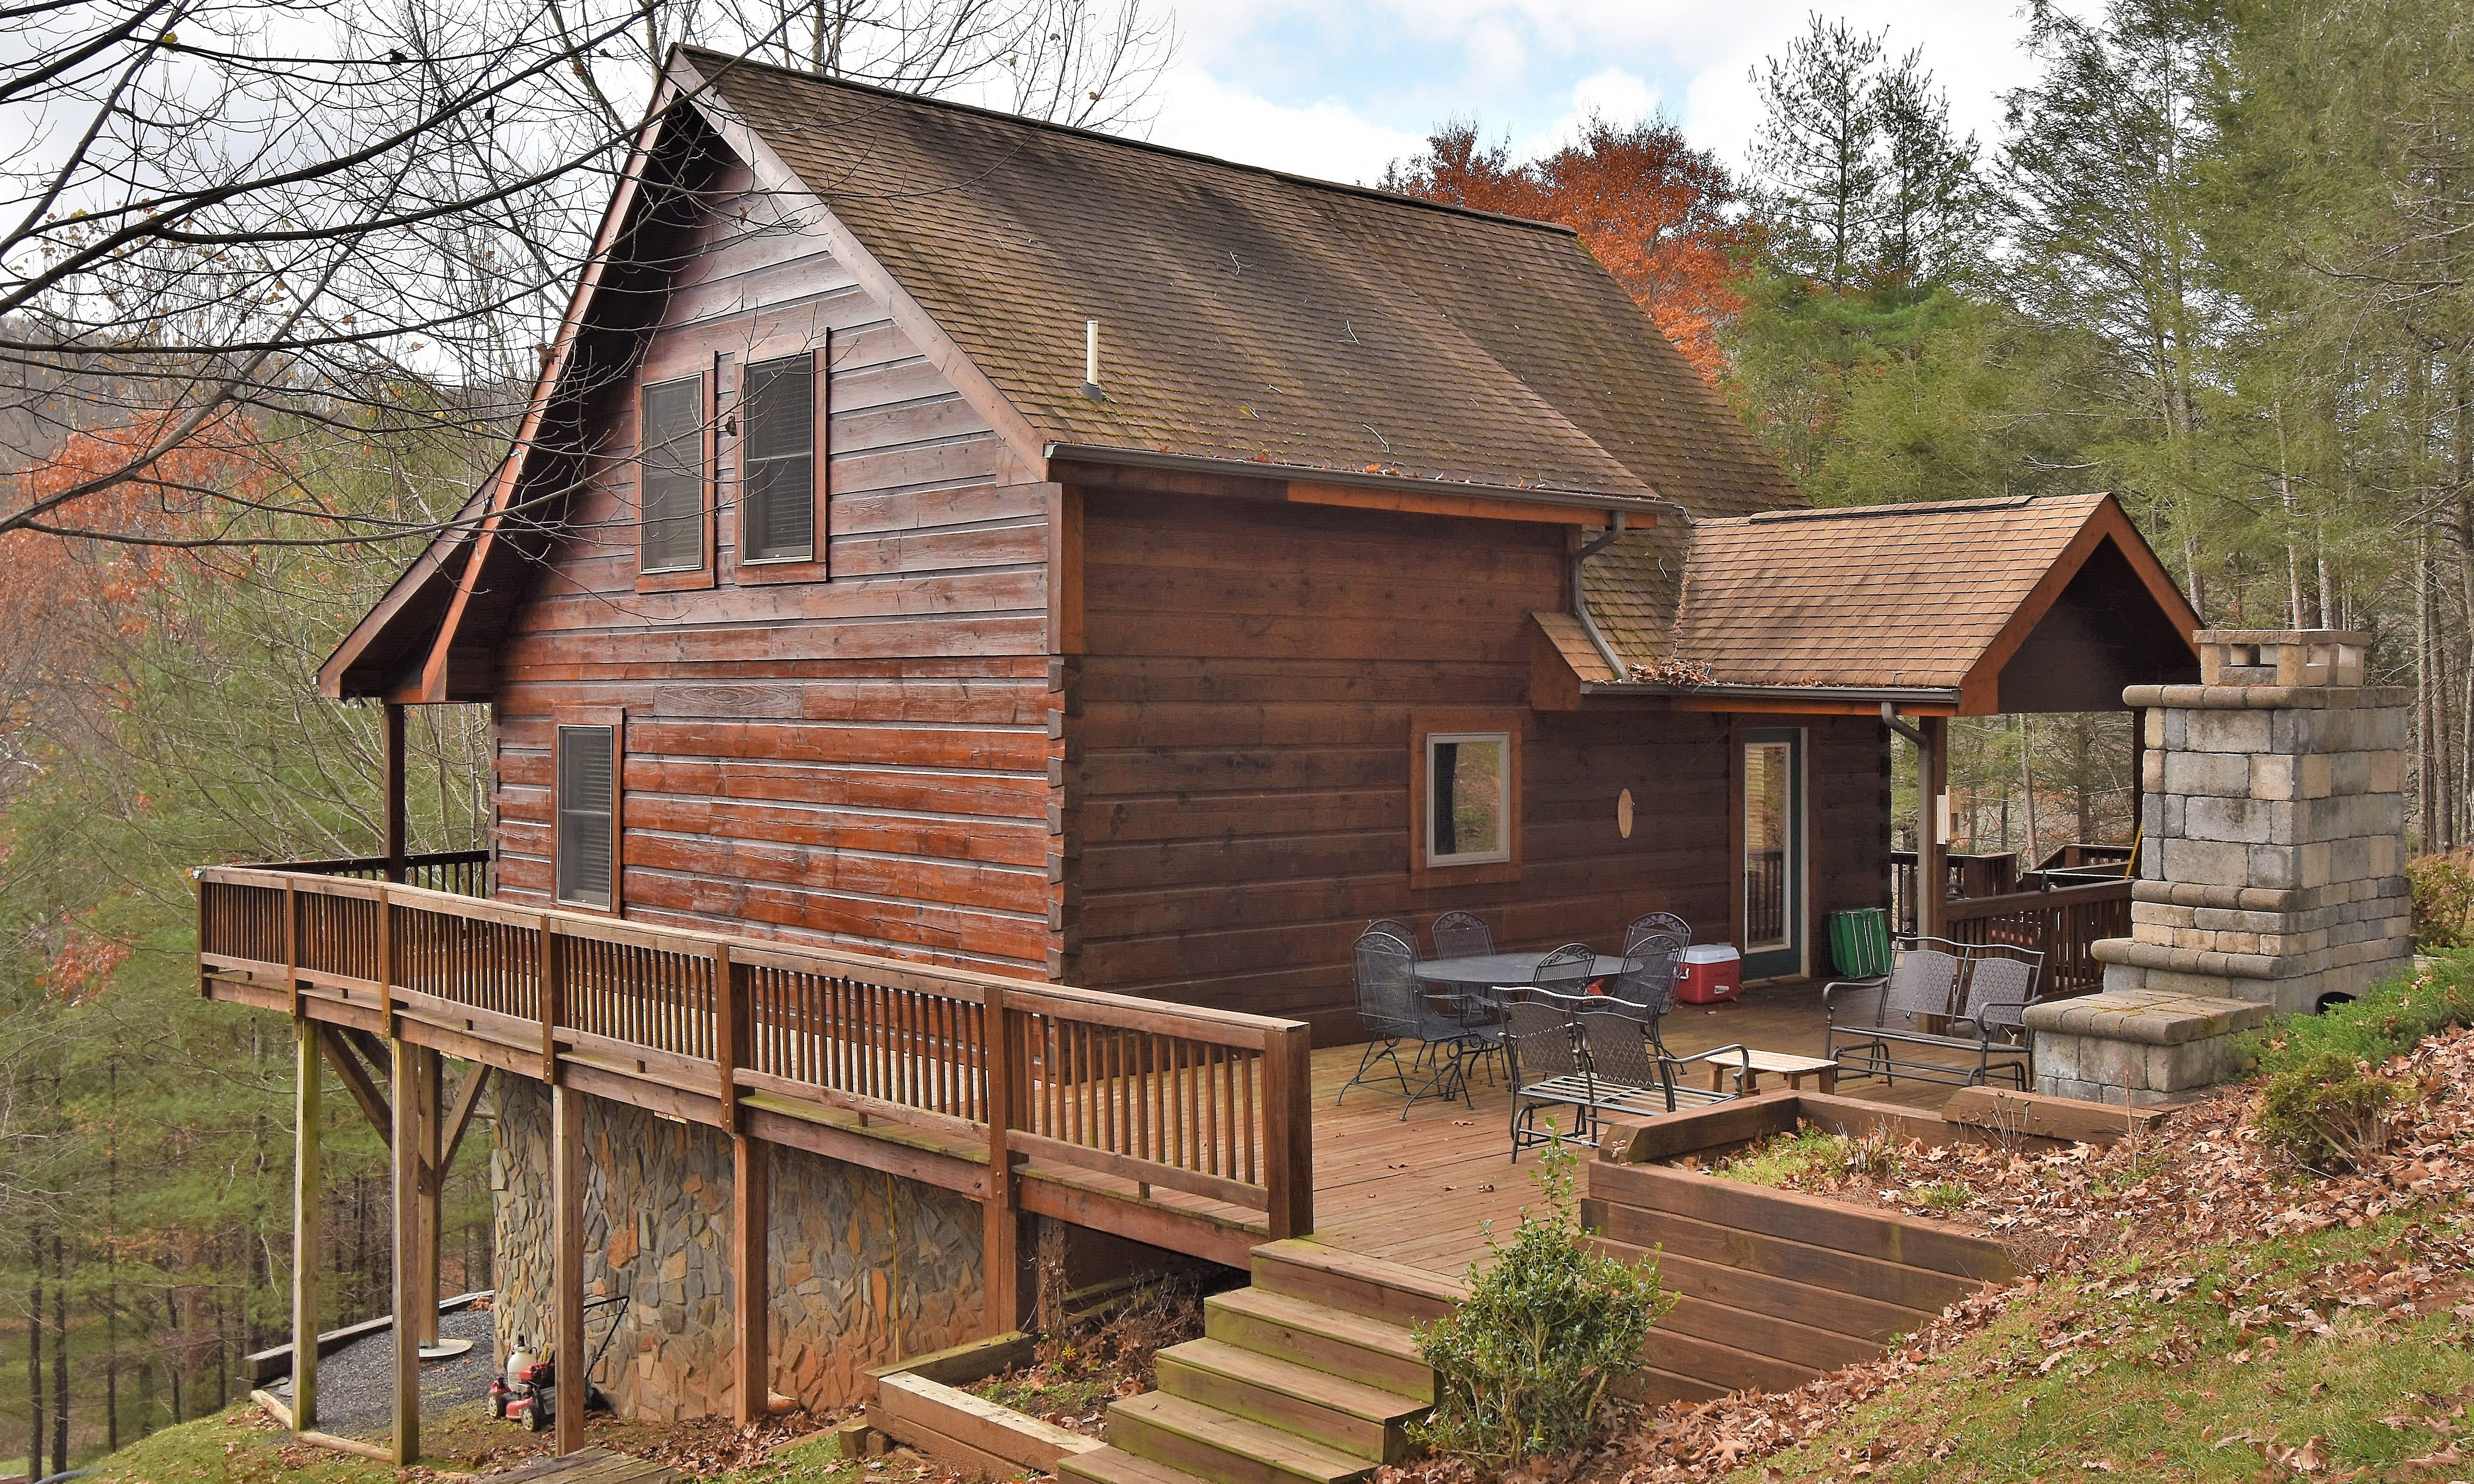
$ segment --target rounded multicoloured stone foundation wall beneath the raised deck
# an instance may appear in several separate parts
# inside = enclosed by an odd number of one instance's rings
[[[497,1078],[497,1355],[549,1336],[549,1088]],[[730,1140],[584,1098],[584,1294],[631,1294],[596,1373],[623,1417],[727,1412]],[[811,1410],[861,1397],[868,1365],[980,1326],[980,1207],[772,1148],[772,1388]],[[586,1316],[586,1348],[611,1311]]]

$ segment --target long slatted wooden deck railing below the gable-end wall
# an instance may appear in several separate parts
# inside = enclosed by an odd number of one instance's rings
[[[349,871],[198,873],[205,972],[383,1014],[448,1014],[500,1049],[985,1138],[1314,1224],[1309,1026],[876,955],[517,908]],[[383,876],[383,861],[376,863]]]

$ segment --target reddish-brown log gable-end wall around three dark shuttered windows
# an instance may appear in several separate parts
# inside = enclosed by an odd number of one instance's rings
[[[497,653],[500,898],[547,903],[554,717],[626,707],[628,918],[1047,974],[1054,492],[819,232],[713,190]],[[717,584],[638,594],[636,386],[799,349],[829,349],[829,581],[737,581],[725,430]]]

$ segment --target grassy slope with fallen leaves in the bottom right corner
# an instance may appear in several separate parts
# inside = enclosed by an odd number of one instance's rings
[[[2048,1281],[1984,1333],[1732,1479],[1848,1479],[1863,1464],[1875,1482],[2115,1472],[2246,1484],[2293,1472],[2387,1477],[2432,1454],[2437,1479],[2462,1479],[2449,1435],[2474,1400],[2474,1348],[2459,1318],[2375,1321],[2328,1306],[2331,1336],[2229,1321],[2261,1291],[2301,1291],[2321,1266],[2402,1237],[2407,1222],[2387,1217],[2192,1254],[2180,1264],[2197,1279],[2187,1289],[2130,1269]],[[2232,1286],[2244,1286],[2239,1298]]]

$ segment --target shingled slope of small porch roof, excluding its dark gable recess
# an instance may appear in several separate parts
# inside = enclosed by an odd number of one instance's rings
[[[2019,650],[2108,542],[2145,596],[2115,581],[2098,601],[2187,638],[2197,618],[2110,495],[1776,510],[1628,534],[1591,559],[1591,616],[1625,663],[1700,663],[1714,685],[1989,688],[1987,665]],[[1606,678],[1593,655],[1573,668]]]

